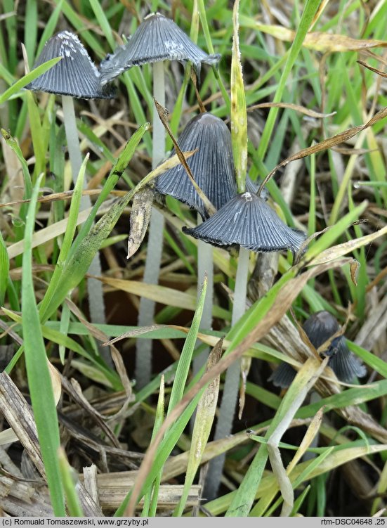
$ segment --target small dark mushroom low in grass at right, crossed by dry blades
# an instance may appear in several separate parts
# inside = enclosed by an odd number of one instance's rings
[[[317,311],[303,323],[303,330],[313,347],[318,349],[339,332],[340,326],[329,311]],[[353,382],[355,378],[362,378],[367,373],[358,356],[348,349],[343,335],[334,337],[322,354],[329,356],[328,366],[342,382]],[[289,363],[281,363],[270,376],[269,381],[272,381],[276,387],[285,389],[289,387],[295,376],[296,371]]]

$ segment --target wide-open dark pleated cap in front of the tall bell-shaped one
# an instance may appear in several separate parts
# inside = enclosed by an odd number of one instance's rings
[[[299,251],[306,234],[284,224],[259,196],[238,194],[214,216],[183,232],[214,245],[239,244],[256,252]]]

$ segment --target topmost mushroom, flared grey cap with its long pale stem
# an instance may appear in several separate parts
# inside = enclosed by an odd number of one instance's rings
[[[136,65],[153,64],[153,96],[165,106],[164,60],[190,60],[199,75],[202,63],[215,65],[220,56],[207,55],[173,22],[160,13],[148,15],[138,26],[131,39],[107,56],[101,63],[101,85],[110,82],[122,72]],[[152,167],[156,167],[165,155],[165,131],[153,107]],[[155,208],[150,217],[150,229],[145,262],[144,282],[157,284],[162,257],[164,216]],[[149,326],[153,322],[155,302],[141,297],[138,326]],[[138,387],[150,381],[152,366],[152,340],[136,343],[135,377]]]

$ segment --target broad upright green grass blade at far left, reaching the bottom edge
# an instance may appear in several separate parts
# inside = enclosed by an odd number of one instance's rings
[[[51,503],[55,515],[64,517],[65,501],[57,456],[60,445],[58,416],[32,280],[31,238],[34,232],[35,208],[37,207],[40,183],[41,176],[37,179],[37,184],[32,192],[25,226],[25,250],[22,259],[22,330],[29,392],[37,423],[41,456],[46,470]]]

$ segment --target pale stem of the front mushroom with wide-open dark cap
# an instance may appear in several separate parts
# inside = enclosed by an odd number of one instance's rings
[[[246,310],[247,277],[249,275],[249,250],[240,247],[238,258],[237,276],[235,278],[234,304],[232,306],[231,325],[234,326],[240,320]],[[234,361],[225,373],[225,384],[221,408],[219,409],[218,422],[214,434],[214,440],[227,437],[232,431],[235,409],[237,406],[238,392],[240,387],[240,359]],[[217,456],[210,462],[208,480],[206,482],[205,497],[209,500],[218,494],[221,484],[225,453]]]

